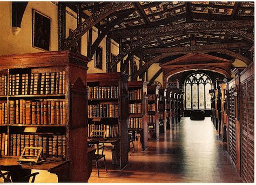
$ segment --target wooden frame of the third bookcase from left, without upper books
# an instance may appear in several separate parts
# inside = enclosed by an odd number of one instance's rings
[[[140,103],[140,113],[130,113],[129,121],[134,121],[136,123],[136,118],[141,119],[141,126],[129,126],[128,130],[133,133],[133,136],[136,137],[135,133],[140,134],[140,143],[142,143],[142,149],[146,150],[147,148],[147,84],[149,82],[143,81],[133,81],[128,82],[128,91],[129,91],[129,104],[130,106],[134,103]],[[132,93],[140,92],[140,98],[134,98]]]

